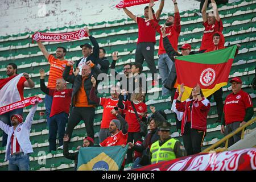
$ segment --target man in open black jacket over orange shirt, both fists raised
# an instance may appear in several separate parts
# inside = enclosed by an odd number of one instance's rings
[[[92,89],[92,82],[90,80],[92,76],[97,80],[97,75],[102,73],[102,71],[89,60],[82,67],[81,75],[69,75],[68,72],[74,64],[74,61],[69,61],[63,72],[64,80],[73,84],[72,111],[65,133],[68,136],[72,136],[73,129],[82,120],[85,123],[87,136],[94,139],[93,121],[97,103],[89,98],[90,90]],[[95,74],[93,75],[92,73]],[[71,137],[69,137],[70,139]]]

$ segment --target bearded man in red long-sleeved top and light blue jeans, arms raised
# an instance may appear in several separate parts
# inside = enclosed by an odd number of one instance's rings
[[[177,2],[176,0],[172,0],[174,2],[174,16],[169,15],[166,23],[164,25],[164,28],[166,29],[166,35],[168,39],[171,42],[172,47],[177,51],[177,43],[178,43],[178,38],[180,35],[181,31],[181,25],[180,25],[180,14],[179,14],[179,9],[177,7]],[[168,75],[171,72],[171,68],[174,65],[174,60],[171,60],[170,57],[167,55],[166,50],[164,49],[163,46],[163,35],[160,30],[161,26],[155,22],[153,16],[152,16],[152,7],[154,6],[154,0],[151,0],[148,7],[148,17],[150,19],[151,26],[154,28],[156,32],[160,34],[160,40],[159,40],[159,49],[158,49],[158,69],[160,76],[162,78],[162,85],[166,84],[166,80],[168,78]],[[162,96],[168,96],[170,94],[170,90],[165,88],[163,86],[162,90]]]

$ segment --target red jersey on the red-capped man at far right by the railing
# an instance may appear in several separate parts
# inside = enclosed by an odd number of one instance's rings
[[[225,124],[243,121],[245,118],[245,110],[248,107],[253,107],[253,102],[248,93],[241,90],[237,94],[230,93],[225,100],[224,113]]]

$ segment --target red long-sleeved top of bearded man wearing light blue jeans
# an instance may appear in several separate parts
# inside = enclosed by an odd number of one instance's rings
[[[178,39],[181,31],[181,25],[180,25],[180,14],[175,13],[174,14],[174,24],[172,26],[166,27],[166,36],[170,40],[170,43],[172,47],[177,51],[177,44]],[[161,26],[156,23],[154,20],[150,20],[151,26],[160,34],[160,40],[159,40],[159,49],[158,49],[158,55],[162,55],[163,53],[166,53],[166,49],[164,49],[163,46],[163,35],[160,30]]]

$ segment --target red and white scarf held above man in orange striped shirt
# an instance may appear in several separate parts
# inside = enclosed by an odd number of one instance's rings
[[[44,32],[35,32],[32,35],[32,43],[35,41],[43,40],[44,42],[65,42],[69,40],[81,39],[84,36],[88,36],[87,32],[84,29],[67,32],[67,33],[44,33]]]

